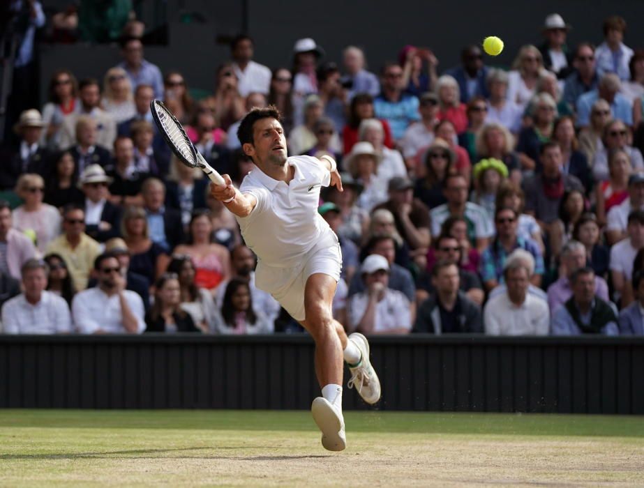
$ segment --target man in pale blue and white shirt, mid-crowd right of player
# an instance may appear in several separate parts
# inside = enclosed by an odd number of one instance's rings
[[[467,201],[467,180],[462,174],[447,175],[443,189],[447,204],[432,208],[429,212],[432,235],[440,234],[442,223],[449,217],[459,216],[467,220],[467,234],[478,250],[484,250],[494,234],[492,223],[485,209]]]

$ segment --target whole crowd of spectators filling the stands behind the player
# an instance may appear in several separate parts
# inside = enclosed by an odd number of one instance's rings
[[[477,45],[444,70],[406,45],[378,73],[359,47],[338,64],[311,38],[271,70],[241,35],[199,99],[137,36],[103,76],[61,67],[1,155],[1,330],[302,330],[151,123],[160,98],[236,185],[258,171],[237,138],[251,107],[278,107],[290,155],[336,158],[344,191],[325,189],[319,214],[340,241],[334,317],[349,331],[644,333],[644,50],[624,45],[621,17],[597,47],[568,47],[569,29],[548,15],[510,70]]]

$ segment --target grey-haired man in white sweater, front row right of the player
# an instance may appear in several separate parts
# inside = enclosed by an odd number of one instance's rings
[[[545,298],[529,292],[532,281],[530,257],[523,250],[507,257],[503,277],[505,292],[486,303],[483,321],[486,335],[548,335],[550,313]]]

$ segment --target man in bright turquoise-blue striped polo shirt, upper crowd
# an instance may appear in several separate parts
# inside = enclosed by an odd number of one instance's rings
[[[403,68],[397,63],[385,63],[381,75],[382,93],[373,101],[375,116],[389,123],[391,135],[397,141],[410,123],[420,119],[419,102],[415,96],[403,93]]]

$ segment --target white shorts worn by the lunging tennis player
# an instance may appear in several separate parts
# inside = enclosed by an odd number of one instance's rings
[[[321,243],[306,253],[301,264],[294,268],[274,268],[260,261],[255,271],[255,286],[271,293],[295,320],[303,321],[306,319],[304,288],[308,277],[315,273],[324,273],[338,282],[340,270],[342,252],[334,234],[334,242],[322,239]]]

